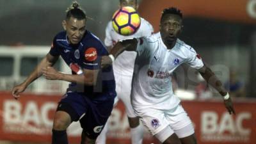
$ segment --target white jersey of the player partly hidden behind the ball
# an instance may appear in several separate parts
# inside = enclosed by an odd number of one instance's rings
[[[106,38],[104,43],[107,47],[113,47],[116,42],[120,40],[130,39],[130,38],[140,38],[142,36],[152,35],[154,29],[152,25],[147,22],[147,20],[141,18],[141,25],[138,31],[130,36],[123,36],[116,33],[113,29],[112,22],[108,22],[106,28]],[[123,76],[132,76],[134,68],[134,60],[136,58],[136,52],[125,51],[113,63],[113,69],[115,74],[122,74]]]

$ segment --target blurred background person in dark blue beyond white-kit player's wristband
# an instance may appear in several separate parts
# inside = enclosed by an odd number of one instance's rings
[[[229,79],[225,83],[225,88],[229,91],[232,97],[245,97],[244,83],[239,79],[237,71],[231,69]]]

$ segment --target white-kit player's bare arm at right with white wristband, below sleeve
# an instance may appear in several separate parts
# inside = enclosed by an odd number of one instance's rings
[[[212,72],[212,70],[205,65],[204,65],[204,67],[198,69],[198,71],[200,72],[202,77],[204,77],[205,81],[207,81],[207,83],[209,83],[216,90],[218,90],[218,92],[223,96],[224,104],[225,104],[225,107],[227,108],[228,112],[230,114],[233,113],[234,115],[236,115],[236,111],[233,107],[232,100],[231,100],[230,96],[228,95],[228,92],[225,90],[220,79],[218,79],[218,77],[216,77],[214,72]]]

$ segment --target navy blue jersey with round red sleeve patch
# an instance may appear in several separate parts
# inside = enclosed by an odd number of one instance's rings
[[[113,68],[100,68],[101,57],[108,56],[108,51],[99,38],[90,31],[86,31],[81,42],[76,45],[68,43],[66,31],[58,33],[54,37],[49,53],[52,56],[61,56],[72,70],[72,74],[83,74],[83,68],[99,70],[95,86],[70,83],[67,93],[78,92],[93,99],[97,96],[99,96],[98,98],[102,97],[102,93],[115,93]]]

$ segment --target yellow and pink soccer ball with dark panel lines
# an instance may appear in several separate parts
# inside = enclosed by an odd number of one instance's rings
[[[140,15],[131,6],[122,7],[114,13],[112,26],[120,35],[132,35],[140,28]]]

